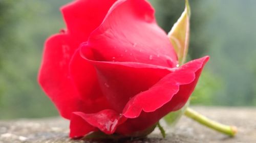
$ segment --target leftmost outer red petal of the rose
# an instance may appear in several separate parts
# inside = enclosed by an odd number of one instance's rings
[[[38,77],[42,89],[55,103],[61,116],[68,119],[73,111],[85,108],[68,72],[74,50],[68,35],[59,34],[50,37],[45,44]]]

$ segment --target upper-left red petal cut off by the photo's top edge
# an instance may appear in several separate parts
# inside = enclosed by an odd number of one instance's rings
[[[61,8],[69,33],[78,41],[86,40],[100,25],[116,0],[77,0]]]

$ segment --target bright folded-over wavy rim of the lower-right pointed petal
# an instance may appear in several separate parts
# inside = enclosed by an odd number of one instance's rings
[[[173,69],[172,73],[166,75],[148,91],[133,97],[126,104],[123,116],[126,118],[137,118],[142,110],[144,112],[153,112],[162,107],[179,92],[180,85],[186,85],[195,80],[196,72],[202,69],[208,60],[209,56],[204,56],[201,59],[190,61],[180,68]],[[158,97],[159,93],[162,95],[161,98]],[[178,110],[181,107],[177,107],[174,110]]]

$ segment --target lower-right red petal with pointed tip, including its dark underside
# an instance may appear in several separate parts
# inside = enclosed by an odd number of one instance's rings
[[[208,59],[205,56],[186,63],[166,75],[148,91],[132,98],[123,110],[123,116],[131,119],[120,125],[117,132],[127,134],[143,130],[154,125],[168,112],[183,107]]]

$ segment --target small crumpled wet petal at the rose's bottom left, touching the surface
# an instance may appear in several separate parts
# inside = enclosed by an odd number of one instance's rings
[[[126,118],[111,109],[91,114],[73,112],[73,117],[70,123],[70,137],[83,136],[97,131],[97,128],[106,134],[113,134],[117,126],[126,121]]]

